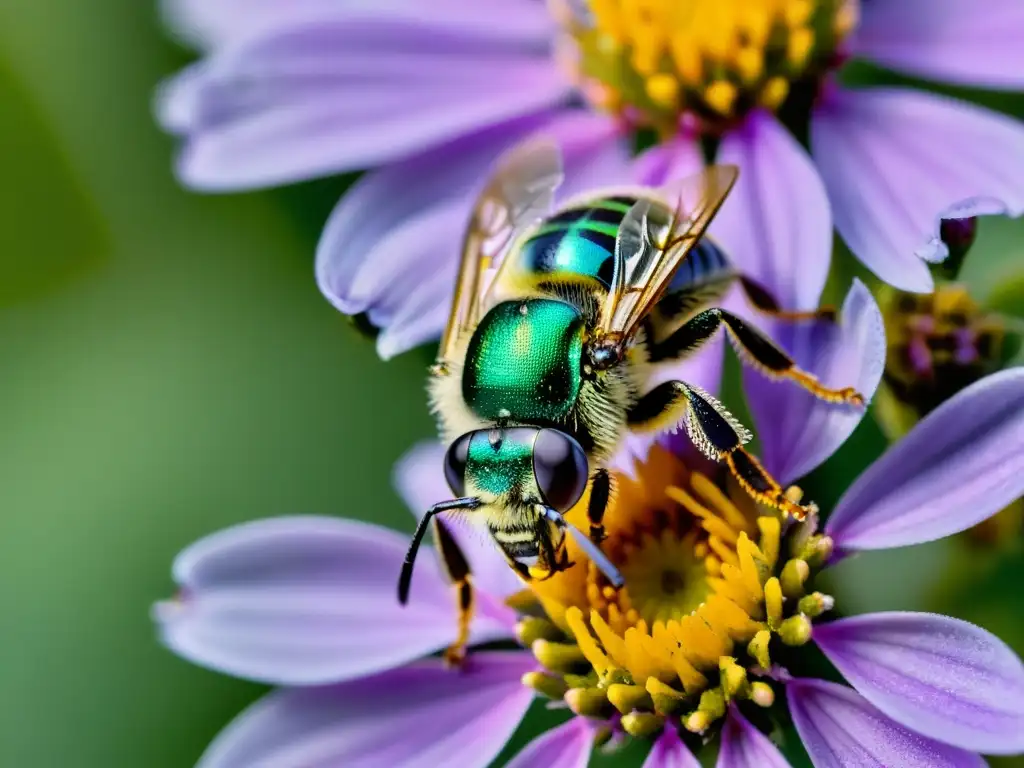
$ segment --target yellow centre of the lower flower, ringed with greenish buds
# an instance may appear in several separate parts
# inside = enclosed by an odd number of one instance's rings
[[[534,583],[547,615],[524,618],[518,635],[547,672],[524,683],[579,715],[617,711],[636,736],[670,721],[702,733],[730,701],[770,706],[772,683],[757,677],[773,649],[806,643],[812,618],[831,607],[805,590],[831,542],[813,520],[783,537],[773,512],[658,447],[636,479],[617,482],[602,548],[626,586],[611,589],[572,548],[580,565]],[[585,524],[585,504],[571,522]]]

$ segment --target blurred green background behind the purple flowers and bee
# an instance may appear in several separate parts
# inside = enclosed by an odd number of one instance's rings
[[[262,689],[155,641],[175,553],[283,513],[409,528],[391,465],[431,430],[426,352],[381,362],[313,283],[341,181],[175,183],[151,103],[188,55],[153,6],[0,3],[3,768],[193,765]],[[980,290],[1022,244],[1020,223],[985,222]],[[878,447],[867,424],[819,496]],[[941,543],[843,569],[849,612],[947,609],[1024,650],[1016,550]]]

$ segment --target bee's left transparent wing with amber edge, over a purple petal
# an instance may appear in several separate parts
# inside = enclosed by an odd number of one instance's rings
[[[498,160],[463,240],[441,359],[451,357],[463,330],[479,321],[484,272],[498,267],[517,232],[550,212],[563,175],[561,152],[548,138],[524,141]]]

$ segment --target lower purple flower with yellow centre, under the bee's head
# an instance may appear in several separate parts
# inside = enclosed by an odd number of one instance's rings
[[[781,456],[766,442],[764,460],[794,474],[835,447],[815,430],[847,428],[810,412],[785,418],[805,428]],[[417,513],[447,496],[440,453],[423,445],[396,469]],[[462,670],[417,660],[455,638],[454,596],[424,558],[409,606],[397,606],[406,541],[393,531],[281,518],[193,545],[174,566],[180,595],[156,609],[165,643],[285,686],[228,726],[203,768],[485,766],[535,691],[577,717],[527,745],[517,768],[582,768],[598,727],[653,739],[647,766],[690,768],[690,750],[718,729],[720,768],[784,766],[751,717],[783,696],[819,768],[981,766],[979,753],[1024,753],[1024,666],[998,639],[928,613],[828,622],[831,598],[812,588],[834,552],[949,536],[1024,494],[1024,369],[926,417],[853,483],[821,532],[814,521],[783,529],[660,447],[620,480],[605,552],[626,587],[603,590],[586,566],[534,583],[546,618],[517,623],[503,598],[521,585],[492,545],[457,528],[479,593],[473,642],[514,637],[528,648],[472,650]],[[799,664],[810,642],[852,687],[779,666],[779,649]]]

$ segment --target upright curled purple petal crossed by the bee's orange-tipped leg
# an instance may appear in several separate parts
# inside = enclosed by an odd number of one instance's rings
[[[830,387],[855,387],[869,400],[882,380],[886,337],[870,291],[855,280],[839,322],[773,323],[772,336],[805,370]],[[743,372],[765,468],[782,483],[822,464],[864,417],[856,406],[825,402],[792,381]]]

